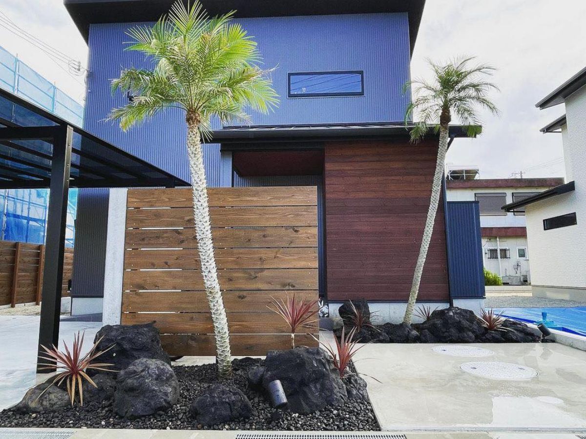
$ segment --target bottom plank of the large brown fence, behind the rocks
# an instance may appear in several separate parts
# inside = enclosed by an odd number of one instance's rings
[[[316,347],[318,342],[308,334],[296,334],[297,346]],[[169,355],[215,356],[216,343],[209,334],[163,334],[161,345]],[[267,355],[268,351],[291,348],[289,334],[230,334],[232,355]]]

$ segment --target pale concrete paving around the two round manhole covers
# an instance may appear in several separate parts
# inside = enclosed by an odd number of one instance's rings
[[[493,351],[465,358],[432,351],[437,344],[368,344],[356,355],[383,430],[584,431],[586,352],[560,344],[473,344]],[[536,369],[524,380],[466,373],[469,361]],[[503,436],[504,437],[504,436]]]

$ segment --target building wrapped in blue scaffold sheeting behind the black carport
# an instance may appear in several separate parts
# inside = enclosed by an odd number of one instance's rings
[[[83,123],[83,106],[0,47],[0,88],[60,116],[74,125]],[[7,163],[9,149],[0,145],[0,166]],[[19,166],[13,164],[10,166]],[[27,167],[21,165],[26,171]],[[35,244],[45,242],[49,191],[46,189],[5,189],[0,191],[0,239]],[[66,245],[73,246],[77,211],[77,189],[69,193]]]

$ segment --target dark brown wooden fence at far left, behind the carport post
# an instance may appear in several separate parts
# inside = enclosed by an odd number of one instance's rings
[[[40,303],[45,267],[45,245],[0,241],[0,306]],[[69,296],[73,248],[65,248],[62,297]]]

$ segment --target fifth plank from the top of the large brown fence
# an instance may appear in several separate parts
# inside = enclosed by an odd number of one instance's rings
[[[313,290],[316,269],[220,270],[223,290]],[[124,290],[203,290],[199,270],[130,270],[124,272]]]

